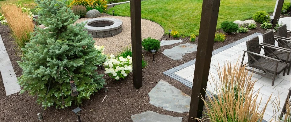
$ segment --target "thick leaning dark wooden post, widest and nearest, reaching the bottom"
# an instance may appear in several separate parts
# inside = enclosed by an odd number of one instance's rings
[[[202,98],[205,98],[206,94],[205,90],[214,45],[219,5],[220,0],[203,0],[202,3],[198,48],[188,122],[197,121],[191,117],[202,117],[204,102],[199,98],[199,96],[202,95]]]

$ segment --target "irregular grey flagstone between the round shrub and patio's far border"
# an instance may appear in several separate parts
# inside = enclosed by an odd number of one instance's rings
[[[175,46],[171,49],[165,49],[162,53],[174,60],[180,60],[182,59],[186,53],[196,52],[197,51],[197,45],[186,43],[186,44],[180,44],[178,46]]]

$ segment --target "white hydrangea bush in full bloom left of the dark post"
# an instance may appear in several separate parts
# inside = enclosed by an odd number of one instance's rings
[[[132,72],[132,58],[127,56],[123,58],[122,56],[115,58],[113,54],[110,55],[109,59],[106,59],[105,63],[105,72],[110,77],[115,80],[125,78],[130,72]]]

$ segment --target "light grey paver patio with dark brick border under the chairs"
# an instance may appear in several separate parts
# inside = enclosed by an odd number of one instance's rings
[[[208,81],[207,89],[206,89],[207,91],[215,92],[215,89],[214,89],[215,86],[211,86],[211,84],[214,84],[214,81],[212,81],[211,79],[211,75],[216,80],[219,79],[217,75],[217,70],[216,70],[216,68],[218,68],[218,64],[221,67],[221,66],[224,66],[224,64],[227,61],[231,63],[236,63],[237,60],[241,61],[242,55],[244,53],[243,50],[246,50],[245,41],[258,35],[259,35],[260,42],[262,42],[263,41],[262,35],[260,33],[255,33],[213,51],[211,65],[210,65],[210,73],[208,77],[209,81]],[[264,54],[263,50],[261,51],[261,54]],[[195,61],[196,60],[194,59],[180,66],[176,66],[170,70],[165,71],[164,74],[192,88]],[[246,63],[247,61],[248,61],[248,58],[247,56],[245,56],[244,63]],[[266,105],[266,100],[269,98],[271,94],[272,94],[271,102],[276,102],[276,99],[280,98],[280,105],[281,105],[280,107],[283,106],[284,100],[287,97],[287,93],[289,91],[288,89],[290,88],[290,85],[291,85],[290,75],[285,74],[285,76],[283,76],[282,73],[279,74],[275,79],[274,86],[271,86],[272,80],[270,78],[262,77],[258,74],[253,74],[252,79],[258,80],[255,83],[254,90],[256,91],[255,93],[257,93],[260,89],[259,99],[262,98],[262,102],[261,102],[261,105],[259,105],[259,108],[262,108],[264,105]],[[269,102],[263,119],[268,121],[274,116],[278,118],[279,112],[276,110],[275,112],[276,113],[273,112],[272,104]]]

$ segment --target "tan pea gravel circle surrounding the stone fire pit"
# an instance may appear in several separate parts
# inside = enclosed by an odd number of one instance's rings
[[[95,40],[95,45],[104,45],[105,54],[118,54],[124,48],[130,46],[131,44],[131,30],[130,30],[130,17],[124,16],[101,16],[108,18],[119,19],[123,22],[122,32],[113,37],[109,38],[93,38]],[[81,23],[91,18],[81,18],[77,20],[76,23]],[[157,23],[150,20],[142,19],[142,39],[152,37],[160,40],[164,35],[164,29]]]

